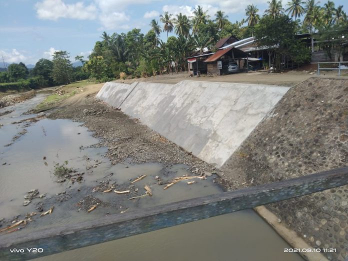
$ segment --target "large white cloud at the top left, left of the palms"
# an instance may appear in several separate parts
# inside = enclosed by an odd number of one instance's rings
[[[83,2],[66,4],[62,0],[43,0],[35,4],[37,17],[40,19],[57,20],[58,18],[90,19],[96,17],[97,8],[94,4],[84,6]]]

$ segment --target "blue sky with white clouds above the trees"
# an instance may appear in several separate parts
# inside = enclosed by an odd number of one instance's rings
[[[348,12],[346,0],[333,1]],[[287,1],[282,2],[284,7]],[[222,10],[234,22],[244,17],[250,3],[260,14],[267,7],[267,0],[0,0],[0,62],[3,56],[8,63],[35,64],[51,58],[54,50],[67,50],[72,58],[87,56],[104,30],[120,33],[136,27],[146,33],[150,20],[164,11],[190,15],[198,4],[210,16]],[[166,39],[165,33],[161,36]]]

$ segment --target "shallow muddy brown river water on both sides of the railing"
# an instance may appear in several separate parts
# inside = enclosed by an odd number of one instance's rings
[[[15,233],[30,233],[38,228],[97,219],[106,214],[222,191],[212,182],[214,176],[197,179],[191,185],[178,182],[163,190],[156,176],[166,182],[173,177],[192,175],[188,166],[155,162],[132,164],[129,160],[112,165],[104,157],[107,148],[95,145],[99,140],[81,122],[45,117],[38,121],[25,120],[36,116],[23,113],[45,95],[46,92],[38,92],[32,99],[0,109],[0,114],[11,111],[0,116],[0,219],[20,220],[28,212],[37,212],[32,217],[34,221]],[[71,180],[57,182],[56,164],[75,169],[83,179],[74,183]],[[141,174],[146,174],[146,178],[134,183],[132,189],[142,194],[147,184],[152,189],[151,197],[126,200],[127,195],[95,190],[96,185],[105,182],[127,188],[130,180]],[[23,206],[24,196],[31,189],[37,189],[43,196]],[[81,200],[88,195],[103,202],[89,213],[81,207]],[[47,210],[53,205],[50,215],[39,217],[38,206]],[[302,260],[295,253],[284,253],[286,247],[289,245],[255,212],[245,210],[37,260]]]

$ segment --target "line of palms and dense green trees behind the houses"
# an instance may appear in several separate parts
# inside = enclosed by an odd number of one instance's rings
[[[81,67],[72,68],[68,52],[57,51],[52,61],[40,59],[30,72],[23,63],[9,65],[7,72],[0,72],[0,82],[36,77],[41,85],[52,85],[87,77],[107,81],[184,71],[186,57],[194,51],[201,54],[204,47],[216,51],[214,44],[230,35],[239,39],[255,36],[258,46],[269,46],[268,65],[279,66],[284,57],[297,64],[308,61],[310,50],[295,37],[298,33],[317,33],[322,39],[321,48],[330,55],[341,55],[346,51],[341,42],[346,40],[347,15],[343,6],[335,7],[333,1],[328,0],[322,6],[318,3],[290,0],[284,8],[280,0],[270,0],[263,14],[250,4],[245,9],[245,18],[235,22],[221,10],[210,17],[199,5],[192,16],[164,12],[159,20],[150,21],[151,29],[146,34],[138,28],[126,33],[103,32],[88,57],[75,57],[82,62]],[[159,37],[162,32],[166,41]],[[172,32],[175,36],[169,36]]]

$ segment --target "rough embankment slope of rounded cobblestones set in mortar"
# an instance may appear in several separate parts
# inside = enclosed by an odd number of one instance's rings
[[[280,99],[221,170],[239,188],[347,166],[348,80],[310,78]],[[348,186],[267,206],[330,260],[348,258]]]

